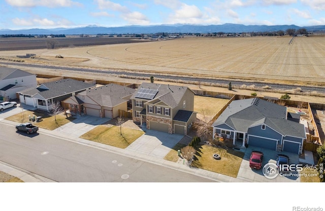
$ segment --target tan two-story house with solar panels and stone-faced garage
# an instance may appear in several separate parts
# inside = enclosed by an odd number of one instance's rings
[[[186,135],[197,118],[188,87],[142,83],[131,99],[133,121],[150,130]]]

